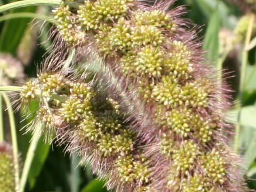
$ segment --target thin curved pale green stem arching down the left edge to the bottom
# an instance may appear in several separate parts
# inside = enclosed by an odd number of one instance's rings
[[[10,129],[11,129],[11,136],[12,136],[12,148],[13,148],[13,162],[14,162],[14,170],[15,170],[15,191],[19,191],[19,183],[20,183],[20,176],[19,176],[19,150],[18,150],[18,142],[17,142],[17,133],[16,133],[16,126],[14,120],[14,113],[11,106],[11,101],[5,92],[2,92],[3,99],[6,103],[9,121],[10,121]]]

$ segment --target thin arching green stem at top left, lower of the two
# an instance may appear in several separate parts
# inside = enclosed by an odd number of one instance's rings
[[[0,22],[9,20],[9,19],[17,19],[17,18],[35,18],[38,20],[47,20],[48,22],[53,23],[53,19],[49,19],[47,15],[39,15],[38,13],[9,13],[0,17]]]

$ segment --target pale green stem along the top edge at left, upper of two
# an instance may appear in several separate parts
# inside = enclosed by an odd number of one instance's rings
[[[60,5],[61,0],[23,0],[0,6],[0,13],[26,6]]]

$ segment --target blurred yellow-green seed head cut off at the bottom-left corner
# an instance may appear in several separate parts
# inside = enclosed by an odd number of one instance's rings
[[[14,163],[11,147],[0,142],[0,189],[5,192],[15,191]]]

